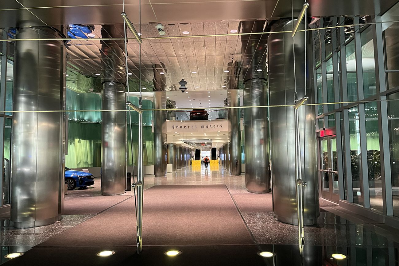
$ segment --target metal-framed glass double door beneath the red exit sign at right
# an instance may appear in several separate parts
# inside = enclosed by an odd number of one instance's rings
[[[320,148],[320,183],[322,184],[322,197],[338,202],[338,162],[336,136],[319,138]]]

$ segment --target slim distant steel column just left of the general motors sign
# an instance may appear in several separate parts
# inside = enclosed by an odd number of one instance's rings
[[[166,108],[166,92],[154,91],[154,107],[155,109]],[[166,176],[166,130],[164,125],[166,122],[166,111],[154,111],[154,174],[156,177]]]

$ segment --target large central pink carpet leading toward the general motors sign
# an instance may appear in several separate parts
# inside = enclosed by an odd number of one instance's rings
[[[144,191],[144,245],[254,244],[225,185],[166,185]],[[50,238],[40,246],[135,245],[134,199]]]

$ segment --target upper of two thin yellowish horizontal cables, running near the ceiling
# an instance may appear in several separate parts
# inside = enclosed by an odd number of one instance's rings
[[[298,30],[297,32],[304,31],[318,31],[325,29],[334,29],[334,28],[347,28],[354,26],[367,26],[373,24],[383,24],[383,23],[397,23],[399,20],[393,21],[384,21],[384,22],[370,22],[363,24],[350,24],[350,25],[338,25],[331,27],[322,27],[322,28],[314,28],[314,29],[306,29],[306,30]],[[152,40],[152,39],[178,39],[178,38],[200,38],[200,37],[222,37],[222,36],[241,36],[241,35],[261,35],[261,34],[272,34],[272,33],[292,33],[292,30],[287,31],[278,31],[278,32],[249,32],[249,33],[224,33],[224,34],[208,34],[208,35],[186,35],[186,36],[166,36],[166,37],[143,37],[142,40]],[[87,40],[115,40],[122,41],[124,38],[88,38]],[[127,38],[128,40],[136,40],[136,38]],[[83,38],[80,39],[71,39],[71,38],[34,38],[34,39],[0,39],[0,41],[53,41],[53,40],[61,40],[61,41],[71,41],[71,40],[86,40]]]

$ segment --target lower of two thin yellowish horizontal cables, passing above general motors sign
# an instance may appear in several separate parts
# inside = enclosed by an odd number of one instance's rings
[[[368,102],[383,102],[383,101],[399,101],[399,99],[381,99],[381,100],[359,100],[354,102],[328,102],[328,103],[310,103],[306,106],[316,105],[328,105],[328,104],[356,104],[356,103],[368,103]],[[257,105],[257,106],[229,106],[229,107],[204,107],[202,109],[213,109],[213,110],[226,110],[226,109],[245,109],[245,108],[272,108],[272,107],[294,107],[295,104],[280,104],[280,105]],[[178,111],[178,110],[192,110],[193,108],[162,108],[162,109],[142,109],[142,111]],[[194,108],[196,109],[196,108]],[[128,110],[38,110],[38,111],[0,111],[1,113],[41,113],[41,112],[127,112]]]

